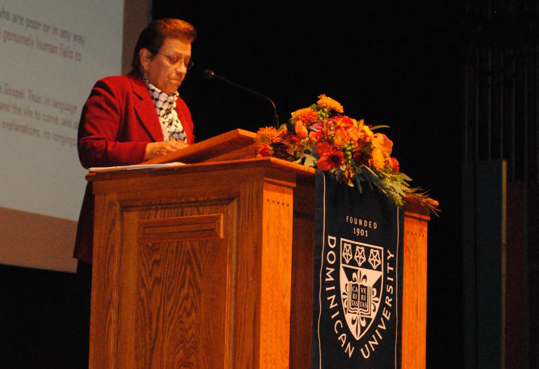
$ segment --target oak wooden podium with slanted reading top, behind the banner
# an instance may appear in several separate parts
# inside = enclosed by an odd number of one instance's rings
[[[90,368],[309,368],[314,170],[254,158],[254,134],[234,132],[190,147],[197,164],[87,175]],[[428,216],[405,210],[402,368],[416,369]]]

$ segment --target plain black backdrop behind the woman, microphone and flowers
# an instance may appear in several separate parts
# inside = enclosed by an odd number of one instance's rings
[[[348,3],[348,2],[346,2]],[[464,7],[459,1],[153,1],[154,17],[199,31],[180,93],[197,140],[271,124],[267,101],[202,78],[212,68],[270,96],[281,122],[332,96],[351,117],[387,124],[401,170],[440,201],[429,224],[427,367],[462,357],[461,127]],[[0,266],[0,363],[74,368],[74,275]]]

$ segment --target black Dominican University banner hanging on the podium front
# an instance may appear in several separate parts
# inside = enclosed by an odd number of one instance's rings
[[[403,211],[316,171],[311,368],[400,368]]]

